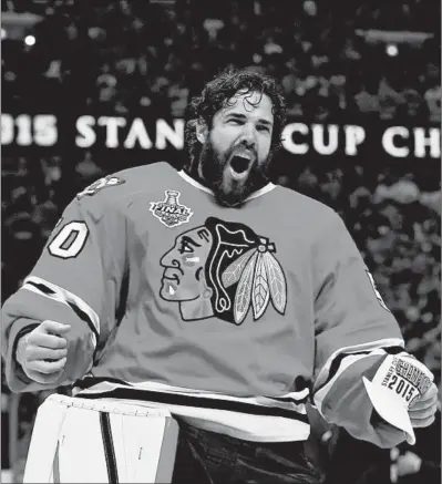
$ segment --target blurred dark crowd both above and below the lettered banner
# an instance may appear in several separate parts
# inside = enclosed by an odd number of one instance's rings
[[[9,0],[2,10],[20,13],[30,4]],[[189,97],[232,64],[276,76],[290,115],[307,122],[426,126],[441,120],[435,1],[339,0],[331,9],[325,0],[182,0],[174,7],[48,0],[32,13],[42,18],[31,32],[34,43],[2,39],[7,113],[181,117]],[[145,154],[144,163],[154,161]],[[122,167],[88,151],[2,156],[2,302],[31,270],[72,197]],[[342,216],[408,350],[440,384],[439,163],[306,162],[286,153],[274,178]]]

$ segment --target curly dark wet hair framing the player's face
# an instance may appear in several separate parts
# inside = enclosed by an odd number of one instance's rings
[[[251,92],[258,92],[261,96],[267,94],[270,97],[275,119],[270,156],[274,156],[281,147],[281,134],[287,119],[287,105],[281,86],[268,75],[251,72],[247,69],[227,68],[208,82],[202,94],[194,97],[187,107],[184,136],[189,165],[193,164],[194,159],[197,159],[201,151],[199,142],[196,138],[196,124],[205,122],[210,127],[215,113],[227,105],[228,100],[238,91],[250,94]]]

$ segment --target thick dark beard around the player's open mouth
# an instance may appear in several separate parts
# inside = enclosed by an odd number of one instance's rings
[[[229,165],[235,150],[236,147],[233,147],[219,155],[215,152],[212,141],[207,140],[197,163],[199,177],[214,192],[217,203],[226,207],[243,205],[249,195],[269,183],[267,168],[270,155],[260,164],[255,158],[243,178],[233,178],[229,175]]]

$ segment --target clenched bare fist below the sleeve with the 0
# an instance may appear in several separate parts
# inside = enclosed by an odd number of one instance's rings
[[[45,320],[20,338],[16,359],[24,373],[38,383],[53,383],[66,363],[69,325]]]

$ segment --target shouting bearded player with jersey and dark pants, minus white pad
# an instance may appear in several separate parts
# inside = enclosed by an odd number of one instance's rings
[[[192,107],[183,171],[106,176],[64,210],[3,306],[10,388],[167,409],[176,483],[319,482],[308,400],[357,439],[413,442],[431,372],[339,216],[268,181],[279,87],[227,71]]]

